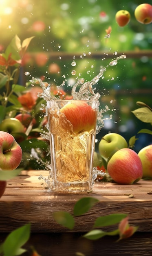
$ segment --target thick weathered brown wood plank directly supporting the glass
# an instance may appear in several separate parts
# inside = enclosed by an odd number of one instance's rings
[[[22,171],[7,182],[7,189],[0,199],[0,232],[31,222],[33,232],[63,232],[52,216],[55,211],[73,213],[75,202],[84,196],[93,196],[99,202],[83,216],[75,218],[75,232],[88,231],[95,219],[110,213],[128,213],[130,224],[139,225],[139,231],[152,230],[152,181],[141,180],[133,185],[96,182],[93,193],[57,194],[45,189],[39,180],[41,171]],[[48,172],[44,171],[47,177]],[[129,198],[129,194],[134,195]],[[108,227],[106,230],[110,230]]]

